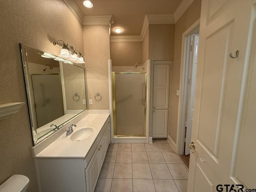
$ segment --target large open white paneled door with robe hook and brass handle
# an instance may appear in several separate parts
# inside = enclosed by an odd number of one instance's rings
[[[256,0],[202,0],[200,21],[188,192],[256,189]]]

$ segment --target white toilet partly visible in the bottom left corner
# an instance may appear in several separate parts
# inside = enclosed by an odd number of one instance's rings
[[[0,185],[0,192],[26,192],[29,179],[24,175],[13,175]]]

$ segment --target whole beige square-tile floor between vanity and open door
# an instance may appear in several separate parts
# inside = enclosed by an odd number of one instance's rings
[[[186,192],[188,169],[167,140],[110,144],[95,192]]]

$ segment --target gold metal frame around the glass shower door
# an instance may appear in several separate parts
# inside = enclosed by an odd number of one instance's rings
[[[116,134],[116,74],[144,74],[145,75],[145,97],[144,97],[144,134]],[[112,72],[112,94],[113,94],[113,127],[114,137],[141,136],[146,137],[146,114],[147,114],[147,73],[146,72]]]

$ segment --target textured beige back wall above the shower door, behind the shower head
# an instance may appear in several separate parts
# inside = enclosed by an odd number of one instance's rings
[[[111,42],[112,66],[134,66],[142,62],[142,42]]]

